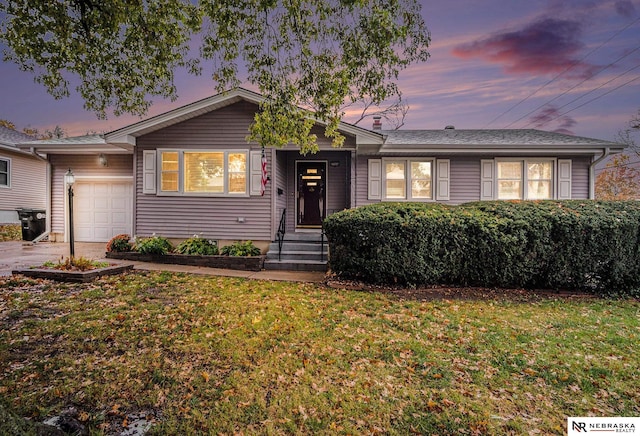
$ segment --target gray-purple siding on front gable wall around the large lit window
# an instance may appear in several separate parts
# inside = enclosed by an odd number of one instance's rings
[[[156,233],[171,238],[189,238],[199,234],[212,239],[272,240],[275,234],[271,209],[273,180],[267,184],[262,197],[161,196],[142,193],[143,150],[259,149],[256,144],[246,141],[256,108],[250,103],[237,103],[138,138],[134,233],[139,236]],[[268,153],[267,170],[274,178],[270,157],[271,153]],[[244,222],[238,222],[238,218],[244,218]]]

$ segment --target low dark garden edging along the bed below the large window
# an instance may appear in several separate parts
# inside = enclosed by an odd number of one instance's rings
[[[143,254],[129,252],[106,252],[108,259],[128,260],[132,262],[153,262],[175,265],[202,266],[241,271],[260,271],[265,256],[199,256],[191,254]]]

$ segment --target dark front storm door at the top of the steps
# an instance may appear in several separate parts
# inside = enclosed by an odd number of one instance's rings
[[[326,216],[326,162],[296,162],[296,227],[320,228]]]

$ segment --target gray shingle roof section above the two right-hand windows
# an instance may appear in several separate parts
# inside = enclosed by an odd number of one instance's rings
[[[383,130],[386,136],[384,148],[412,145],[584,145],[616,146],[620,144],[600,139],[545,132],[535,129],[506,130]]]

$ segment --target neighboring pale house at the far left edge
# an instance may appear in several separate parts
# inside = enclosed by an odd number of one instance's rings
[[[19,223],[16,209],[47,209],[47,162],[16,144],[32,136],[0,126],[0,224]]]

